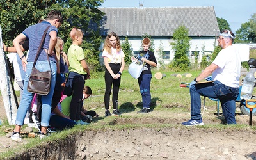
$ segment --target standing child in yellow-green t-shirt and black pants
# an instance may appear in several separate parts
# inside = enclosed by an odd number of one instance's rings
[[[75,120],[77,124],[85,125],[81,120],[80,102],[83,98],[83,88],[86,79],[90,79],[90,70],[85,61],[83,48],[83,31],[73,28],[70,31],[72,45],[68,49],[68,61],[70,72],[68,74],[67,83],[72,87],[72,100],[70,102],[70,119]],[[66,84],[67,86],[67,84]],[[64,92],[65,93],[65,92]]]

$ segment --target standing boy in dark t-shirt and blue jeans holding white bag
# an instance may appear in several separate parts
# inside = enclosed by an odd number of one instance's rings
[[[138,111],[138,113],[148,113],[150,111],[151,103],[151,93],[150,93],[150,83],[152,79],[151,66],[156,67],[157,61],[154,55],[154,52],[149,51],[151,41],[149,38],[144,38],[142,40],[143,51],[139,53],[139,61],[145,63],[143,71],[141,72],[140,77],[138,78],[138,83],[140,86],[140,93],[142,97],[143,108]],[[132,60],[134,60],[132,56]]]

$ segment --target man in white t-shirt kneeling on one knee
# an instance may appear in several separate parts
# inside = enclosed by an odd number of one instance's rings
[[[201,116],[200,95],[220,99],[223,116],[227,124],[236,124],[236,99],[239,95],[241,60],[232,42],[234,33],[220,32],[218,45],[222,48],[211,65],[190,83],[191,120],[182,125],[204,125]],[[212,82],[197,84],[212,74]]]

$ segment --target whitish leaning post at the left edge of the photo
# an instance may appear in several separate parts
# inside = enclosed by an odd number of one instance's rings
[[[3,50],[2,30],[0,26],[0,88],[4,102],[4,109],[8,118],[9,125],[15,124],[17,115],[17,98],[13,89],[12,80],[8,73],[8,64]],[[15,100],[16,99],[16,100]]]

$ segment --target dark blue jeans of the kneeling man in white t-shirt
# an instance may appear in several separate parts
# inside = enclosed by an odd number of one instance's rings
[[[239,95],[239,88],[225,86],[220,81],[190,86],[191,119],[198,120],[201,118],[200,95],[220,99],[223,116],[227,124],[236,124],[236,99]]]

